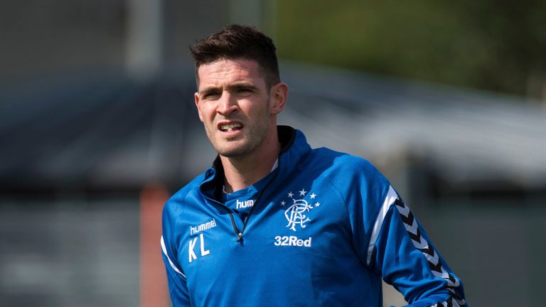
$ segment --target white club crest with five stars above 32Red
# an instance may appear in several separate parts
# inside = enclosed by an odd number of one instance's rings
[[[296,231],[296,225],[305,228],[306,223],[311,221],[309,212],[321,205],[321,203],[316,201],[317,195],[315,193],[306,195],[308,191],[305,189],[299,190],[298,193],[299,195],[296,196],[290,191],[287,193],[287,197],[290,198],[290,200],[282,200],[281,202],[282,206],[289,206],[287,210],[284,211],[284,217],[287,217],[287,227],[293,231]]]

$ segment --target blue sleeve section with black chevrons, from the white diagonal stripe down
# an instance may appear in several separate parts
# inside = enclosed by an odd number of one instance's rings
[[[409,306],[468,306],[461,281],[447,266],[392,186],[371,228],[366,263],[402,293]]]

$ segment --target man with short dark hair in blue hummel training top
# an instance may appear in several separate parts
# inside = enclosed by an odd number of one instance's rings
[[[227,26],[191,47],[213,167],[164,208],[173,306],[466,306],[461,281],[368,161],[277,126],[288,87],[272,40]]]

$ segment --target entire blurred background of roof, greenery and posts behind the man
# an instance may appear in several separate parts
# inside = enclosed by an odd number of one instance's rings
[[[227,23],[274,38],[281,124],[378,166],[471,306],[542,303],[545,1],[0,3],[0,306],[170,306],[161,208],[215,156],[188,45]]]

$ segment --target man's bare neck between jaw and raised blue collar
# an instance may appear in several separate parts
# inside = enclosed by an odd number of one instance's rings
[[[257,149],[258,152],[245,156],[220,156],[224,167],[226,192],[232,193],[247,188],[271,173],[281,150],[277,134],[274,140],[269,146],[260,146],[262,149]],[[267,142],[267,140],[264,141]]]

